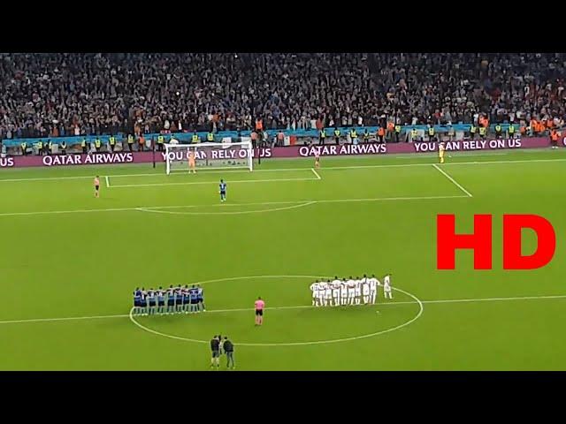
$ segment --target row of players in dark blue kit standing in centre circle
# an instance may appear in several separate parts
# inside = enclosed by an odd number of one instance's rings
[[[169,286],[164,290],[137,287],[134,290],[134,315],[154,314],[191,314],[206,311],[204,307],[203,288],[200,285],[188,287]]]

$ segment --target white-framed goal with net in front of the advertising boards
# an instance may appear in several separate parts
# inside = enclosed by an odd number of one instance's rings
[[[202,144],[165,144],[165,170],[172,172],[189,169],[191,153],[195,157],[197,169],[234,169],[253,170],[252,145],[249,141],[239,143],[202,143]]]

